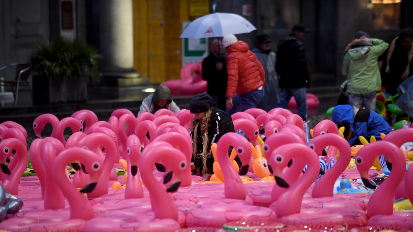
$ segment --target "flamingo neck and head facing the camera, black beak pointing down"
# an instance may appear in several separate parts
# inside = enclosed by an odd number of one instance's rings
[[[138,173],[140,141],[135,135],[130,135],[126,141],[126,153],[129,175],[126,180],[125,199],[142,198],[143,188]]]

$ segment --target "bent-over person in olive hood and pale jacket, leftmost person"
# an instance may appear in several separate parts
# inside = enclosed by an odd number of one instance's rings
[[[138,115],[143,112],[154,114],[159,109],[169,109],[175,114],[179,111],[179,107],[172,100],[171,90],[163,85],[159,86],[153,95],[143,99]]]

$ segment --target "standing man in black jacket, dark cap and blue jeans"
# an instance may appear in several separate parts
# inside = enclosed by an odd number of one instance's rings
[[[307,118],[306,88],[310,86],[310,74],[304,50],[306,33],[302,24],[292,28],[290,36],[278,43],[275,71],[280,76],[280,100],[278,107],[287,107],[291,97],[297,102],[297,114],[305,121]]]

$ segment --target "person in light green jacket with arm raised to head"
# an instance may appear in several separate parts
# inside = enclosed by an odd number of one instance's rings
[[[389,44],[371,38],[366,32],[358,31],[353,41],[346,47],[342,73],[347,77],[349,103],[353,107],[376,109],[376,90],[381,87],[377,58],[385,52]]]

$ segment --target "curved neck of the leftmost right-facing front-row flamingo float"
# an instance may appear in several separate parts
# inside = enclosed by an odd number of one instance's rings
[[[89,200],[86,199],[82,194],[72,185],[66,176],[66,165],[74,160],[81,160],[81,157],[65,156],[60,162],[55,162],[53,167],[53,173],[55,173],[56,184],[59,186],[60,190],[65,193],[66,199],[69,202],[70,208],[70,218],[71,219],[83,219],[89,220],[95,217],[92,206],[89,204]]]

